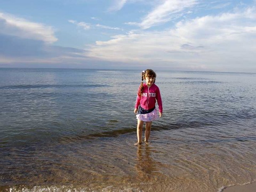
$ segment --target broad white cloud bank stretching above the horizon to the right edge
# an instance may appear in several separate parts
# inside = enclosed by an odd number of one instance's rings
[[[255,7],[180,21],[164,31],[132,31],[98,41],[86,55],[108,61],[221,69],[256,62]],[[218,67],[217,67],[218,66]]]

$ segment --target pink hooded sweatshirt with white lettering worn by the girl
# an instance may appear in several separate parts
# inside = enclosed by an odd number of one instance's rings
[[[138,93],[140,87],[138,89]],[[162,99],[158,86],[155,84],[151,85],[149,88],[146,83],[143,84],[143,90],[141,98],[137,95],[137,100],[135,103],[135,109],[139,108],[139,105],[146,110],[153,109],[158,104],[159,113],[163,113]]]

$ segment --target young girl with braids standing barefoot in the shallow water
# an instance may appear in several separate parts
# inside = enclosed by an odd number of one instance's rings
[[[143,80],[146,79],[146,83],[143,84]],[[156,73],[151,69],[142,71],[141,84],[138,90],[137,100],[135,103],[134,113],[138,119],[137,124],[137,138],[138,142],[134,145],[141,145],[142,127],[146,122],[145,142],[148,144],[148,139],[151,131],[152,122],[158,117],[156,111],[156,101],[159,109],[159,117],[162,116],[163,107],[162,99],[158,86],[155,85]]]

